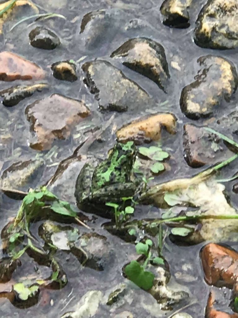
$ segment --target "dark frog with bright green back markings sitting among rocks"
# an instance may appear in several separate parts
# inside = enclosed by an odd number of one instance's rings
[[[100,210],[106,213],[107,202],[118,204],[122,197],[134,197],[141,183],[133,173],[135,160],[136,146],[129,141],[117,142],[108,158],[96,167],[85,163],[76,180],[77,206],[83,211],[88,211],[91,206],[95,213]]]

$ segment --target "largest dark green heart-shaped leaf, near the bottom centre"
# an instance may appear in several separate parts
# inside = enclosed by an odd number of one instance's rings
[[[146,272],[136,260],[125,267],[125,274],[129,280],[144,290],[149,290],[153,286],[155,275]]]

